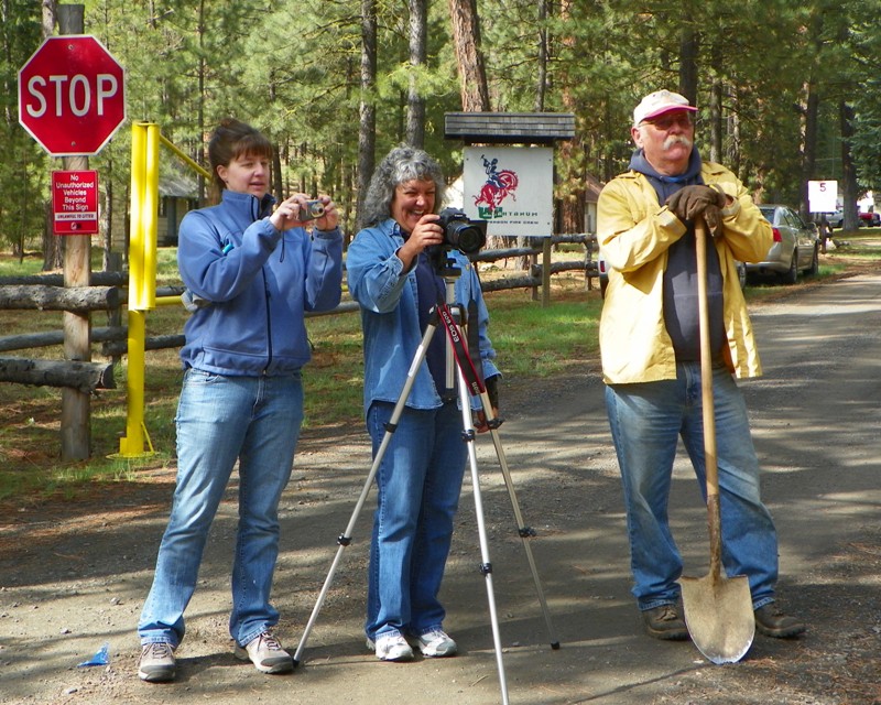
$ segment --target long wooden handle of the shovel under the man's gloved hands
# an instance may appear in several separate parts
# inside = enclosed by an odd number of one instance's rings
[[[719,467],[716,458],[716,409],[713,402],[713,354],[709,349],[709,304],[707,303],[707,224],[695,220],[697,254],[697,306],[700,329],[700,393],[704,413],[704,464],[707,478],[707,524],[709,527],[710,572],[721,571],[721,512],[719,509]]]

